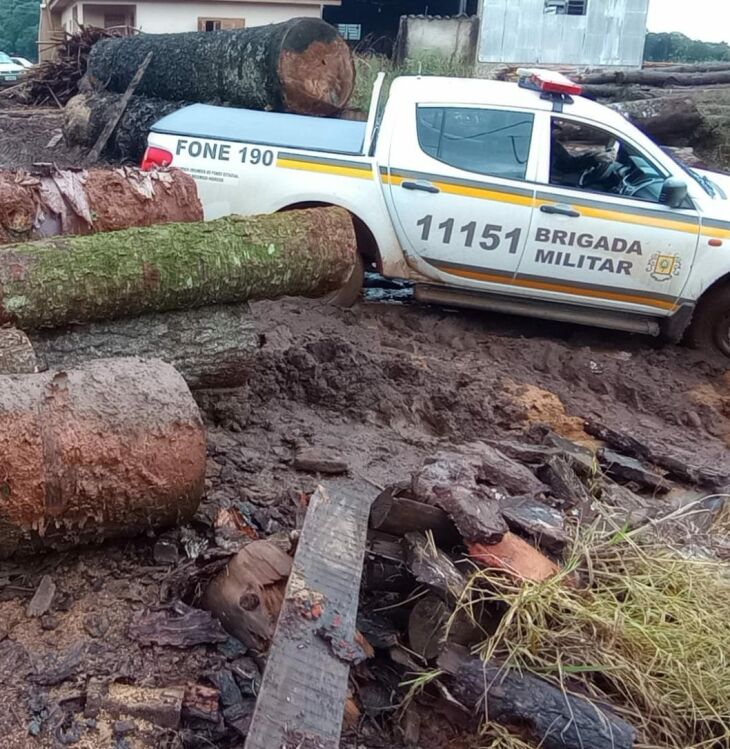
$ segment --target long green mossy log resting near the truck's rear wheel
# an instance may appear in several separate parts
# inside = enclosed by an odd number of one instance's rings
[[[351,275],[350,215],[311,208],[60,237],[0,250],[0,325],[28,330],[278,296]]]

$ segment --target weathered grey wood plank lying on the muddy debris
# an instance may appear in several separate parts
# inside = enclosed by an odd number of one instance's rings
[[[354,642],[374,498],[360,482],[320,486],[312,495],[246,749],[338,749],[350,662],[319,631],[339,617],[338,638]]]

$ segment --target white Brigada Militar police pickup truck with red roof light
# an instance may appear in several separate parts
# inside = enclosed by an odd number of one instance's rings
[[[730,177],[674,160],[569,79],[403,77],[367,122],[196,104],[146,168],[197,181],[207,218],[338,205],[362,265],[417,299],[685,334],[730,356]]]

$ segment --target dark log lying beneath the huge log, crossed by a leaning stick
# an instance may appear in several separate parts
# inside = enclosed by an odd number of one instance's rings
[[[78,94],[64,108],[63,135],[71,146],[90,148],[101,135],[123,94],[94,91]],[[147,147],[152,125],[165,115],[186,106],[184,101],[166,101],[133,96],[107,143],[104,154],[115,161],[139,164]]]

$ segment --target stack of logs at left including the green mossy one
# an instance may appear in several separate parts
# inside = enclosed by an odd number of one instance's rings
[[[341,209],[202,216],[175,170],[0,174],[0,557],[191,517],[189,387],[245,378],[248,300],[321,296],[353,271]]]

